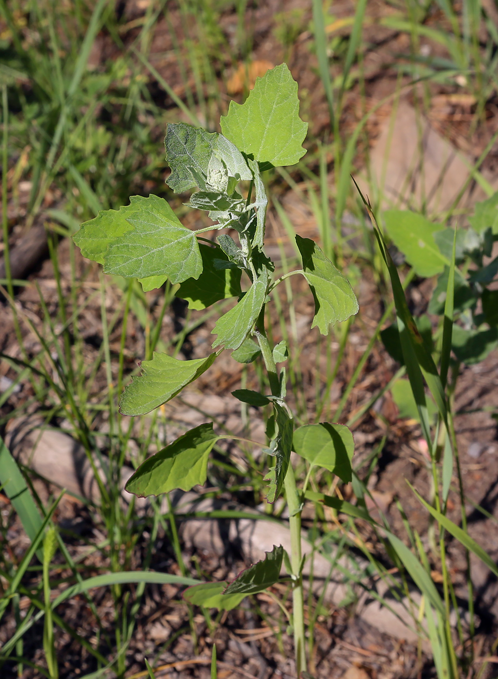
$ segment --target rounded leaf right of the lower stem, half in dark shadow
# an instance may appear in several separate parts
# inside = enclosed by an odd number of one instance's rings
[[[344,424],[305,424],[294,431],[294,451],[311,464],[337,474],[345,483],[351,481],[354,440]]]

